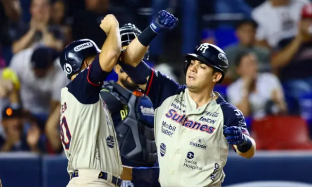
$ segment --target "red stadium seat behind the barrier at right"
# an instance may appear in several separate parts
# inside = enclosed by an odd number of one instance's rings
[[[307,122],[300,117],[268,116],[254,120],[251,134],[257,149],[312,150]]]

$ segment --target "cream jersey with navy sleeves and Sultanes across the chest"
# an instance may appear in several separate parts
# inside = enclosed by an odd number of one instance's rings
[[[221,96],[197,109],[185,85],[178,85],[154,70],[146,94],[156,108],[155,138],[161,186],[220,186],[228,155],[223,126],[239,126],[248,135],[240,110]]]

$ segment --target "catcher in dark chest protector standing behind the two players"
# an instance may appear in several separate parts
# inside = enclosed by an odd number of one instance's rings
[[[131,23],[121,26],[119,31],[122,49],[127,48],[129,43],[141,34]],[[144,60],[148,60],[148,57],[146,52]],[[157,160],[153,104],[119,65],[115,66],[114,71],[118,75],[118,81],[105,82],[101,96],[111,113],[122,164],[131,167],[153,167]],[[155,178],[158,179],[158,170],[155,171]],[[154,185],[146,179],[137,183],[123,181],[122,187]]]

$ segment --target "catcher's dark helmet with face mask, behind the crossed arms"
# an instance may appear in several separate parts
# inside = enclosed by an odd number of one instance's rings
[[[130,44],[134,38],[136,38],[138,35],[140,35],[142,32],[140,29],[138,29],[134,24],[127,23],[122,25],[119,28],[120,31],[120,37],[121,37],[121,45],[127,46]],[[144,59],[148,60],[149,59],[149,51],[147,50]]]

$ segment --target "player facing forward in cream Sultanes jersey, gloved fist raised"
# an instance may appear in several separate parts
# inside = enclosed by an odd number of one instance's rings
[[[160,12],[164,19],[173,17]],[[213,92],[228,69],[225,53],[203,43],[186,55],[186,85],[148,67],[143,61],[129,60],[132,52],[144,52],[159,31],[169,27],[153,19],[134,39],[119,65],[139,84],[155,108],[155,139],[162,187],[220,187],[228,146],[242,157],[255,154],[255,141],[249,136],[243,114]],[[135,49],[135,50],[134,50]]]

